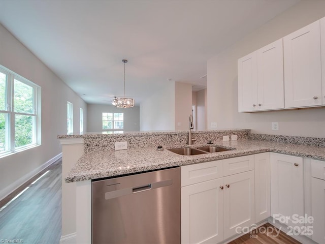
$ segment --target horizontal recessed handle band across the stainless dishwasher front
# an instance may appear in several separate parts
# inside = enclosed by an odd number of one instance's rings
[[[121,190],[106,192],[105,200],[130,195],[133,193],[149,191],[149,190],[153,190],[153,189],[157,189],[157,188],[161,188],[161,187],[168,187],[171,185],[173,185],[173,179],[167,179],[167,180],[161,180],[161,181],[153,182],[153,183],[138,186],[138,187],[124,188]]]

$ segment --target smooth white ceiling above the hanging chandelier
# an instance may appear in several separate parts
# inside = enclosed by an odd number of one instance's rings
[[[0,23],[87,103],[123,95],[128,59],[139,104],[168,79],[205,87],[209,58],[298,2],[0,0]]]

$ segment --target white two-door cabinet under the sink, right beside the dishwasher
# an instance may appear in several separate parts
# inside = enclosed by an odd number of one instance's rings
[[[218,168],[223,168],[222,175],[236,173],[211,179]],[[254,155],[181,167],[181,182],[191,182],[193,175],[203,181],[182,185],[182,243],[215,244],[255,223],[253,169]]]

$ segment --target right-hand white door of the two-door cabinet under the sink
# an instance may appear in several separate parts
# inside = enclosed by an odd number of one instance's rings
[[[224,238],[255,223],[254,171],[223,178]]]

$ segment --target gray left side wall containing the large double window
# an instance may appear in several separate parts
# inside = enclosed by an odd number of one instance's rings
[[[67,101],[74,107],[74,134],[79,134],[79,108],[87,131],[86,103],[40,59],[0,24],[0,64],[42,87],[42,144],[0,159],[0,200],[61,153],[57,135],[67,134]]]

